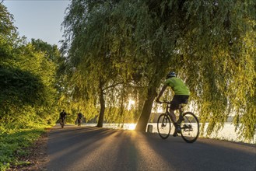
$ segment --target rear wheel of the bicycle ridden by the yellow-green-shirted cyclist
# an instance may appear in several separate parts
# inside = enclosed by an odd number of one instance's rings
[[[193,143],[198,138],[199,123],[194,113],[186,112],[181,121],[181,137],[188,143]]]

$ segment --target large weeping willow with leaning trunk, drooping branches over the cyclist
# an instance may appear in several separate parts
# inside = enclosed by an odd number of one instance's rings
[[[145,131],[156,89],[176,71],[191,89],[202,130],[209,122],[212,134],[233,115],[240,134],[252,139],[255,16],[251,0],[73,1],[64,22],[68,92],[90,109],[100,102],[100,113],[106,99],[121,111],[124,93],[139,92],[136,130]],[[124,89],[131,80],[133,89]]]

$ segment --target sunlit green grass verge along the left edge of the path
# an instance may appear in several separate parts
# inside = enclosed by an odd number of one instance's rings
[[[26,128],[5,128],[0,126],[0,170],[10,166],[28,165],[30,162],[20,161],[30,152],[26,147],[33,145],[45,129],[51,127],[45,124],[33,124]]]

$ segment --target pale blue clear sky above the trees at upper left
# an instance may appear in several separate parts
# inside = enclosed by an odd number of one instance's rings
[[[5,0],[8,11],[14,16],[19,36],[40,39],[57,44],[62,39],[61,23],[70,0]]]

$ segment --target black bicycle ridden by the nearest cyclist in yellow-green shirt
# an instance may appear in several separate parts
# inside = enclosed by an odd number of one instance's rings
[[[170,135],[171,124],[170,124],[170,102],[163,101],[160,103],[167,103],[166,112],[160,114],[157,120],[157,131],[161,138],[166,139]],[[181,137],[188,143],[193,143],[198,138],[199,134],[199,122],[198,118],[194,113],[185,112],[183,113],[183,106],[186,103],[182,103],[179,106],[179,119],[177,124],[181,125]]]

